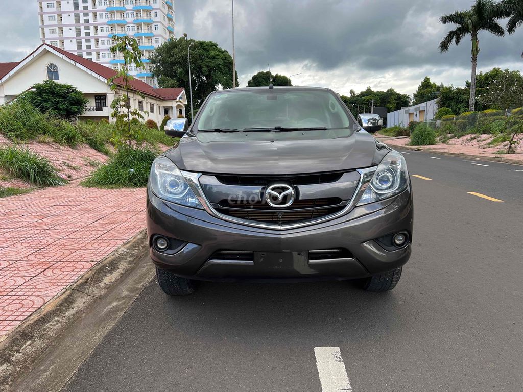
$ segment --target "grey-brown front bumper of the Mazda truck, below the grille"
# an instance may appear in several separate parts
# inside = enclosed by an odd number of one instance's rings
[[[206,211],[165,202],[147,191],[147,235],[157,267],[199,280],[317,280],[365,278],[403,266],[410,242],[388,251],[374,239],[406,231],[412,239],[410,186],[401,194],[355,207],[317,225],[274,230],[225,222]],[[154,235],[187,243],[174,254],[156,251]],[[347,250],[343,257],[310,260],[309,251]],[[222,260],[220,251],[252,251],[253,260]],[[286,252],[285,255],[282,255]],[[285,257],[280,257],[285,256]]]

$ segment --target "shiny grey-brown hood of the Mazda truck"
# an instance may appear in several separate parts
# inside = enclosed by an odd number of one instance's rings
[[[336,139],[202,143],[180,139],[163,155],[180,170],[210,174],[280,175],[342,171],[378,165],[390,150],[365,131]]]

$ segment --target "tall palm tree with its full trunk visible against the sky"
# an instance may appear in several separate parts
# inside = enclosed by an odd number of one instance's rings
[[[464,11],[455,11],[450,15],[442,16],[439,21],[442,24],[456,25],[454,30],[447,33],[447,36],[439,44],[441,52],[447,52],[452,43],[459,45],[463,37],[470,34],[472,42],[472,76],[470,80],[470,99],[469,110],[474,111],[476,103],[476,66],[477,54],[480,52],[480,41],[477,34],[481,30],[493,33],[495,36],[503,37],[505,30],[498,24],[497,20],[501,19],[494,13],[496,3],[493,0],[476,0],[470,9]]]

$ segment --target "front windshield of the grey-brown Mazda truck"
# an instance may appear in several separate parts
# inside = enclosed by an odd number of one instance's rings
[[[354,128],[354,122],[327,90],[241,90],[213,94],[195,130]]]

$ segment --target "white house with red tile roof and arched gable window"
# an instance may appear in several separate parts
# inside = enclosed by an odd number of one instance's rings
[[[19,63],[0,63],[0,105],[18,97],[35,83],[51,79],[71,84],[84,93],[89,103],[81,118],[112,121],[110,105],[115,94],[121,94],[122,90],[111,91],[107,80],[116,73],[84,57],[42,44]],[[131,107],[143,111],[145,120],[159,124],[166,115],[185,117],[187,97],[183,88],[153,88],[142,80],[133,79],[131,89]]]

